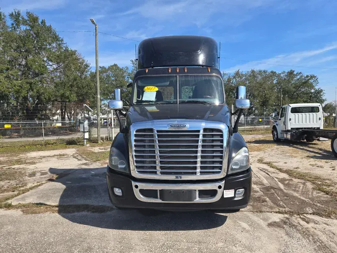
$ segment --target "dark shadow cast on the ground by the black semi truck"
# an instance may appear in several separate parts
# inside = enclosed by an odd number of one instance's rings
[[[151,209],[116,209],[106,188],[106,168],[49,168],[52,180],[65,186],[58,213],[71,222],[109,229],[171,231],[222,226],[227,216],[212,211],[171,212]]]

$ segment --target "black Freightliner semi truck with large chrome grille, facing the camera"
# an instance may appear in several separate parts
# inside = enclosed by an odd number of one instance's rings
[[[139,44],[125,125],[119,89],[109,101],[121,125],[106,171],[113,205],[170,210],[248,205],[252,170],[238,122],[250,101],[246,87],[239,86],[233,124],[218,55],[216,41],[204,36],[163,36]]]

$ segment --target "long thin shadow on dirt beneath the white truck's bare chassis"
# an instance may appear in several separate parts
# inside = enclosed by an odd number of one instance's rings
[[[330,141],[330,140],[329,140]],[[247,143],[252,144],[275,144],[280,146],[288,146],[292,148],[296,148],[298,150],[307,151],[314,155],[308,155],[308,157],[314,159],[322,159],[322,160],[337,160],[334,156],[333,152],[328,149],[324,149],[319,147],[319,143],[317,142],[306,142],[306,141],[291,141],[291,140],[282,140],[281,142],[275,142],[270,139],[256,139],[256,140],[248,140]],[[316,149],[316,150],[313,150]]]

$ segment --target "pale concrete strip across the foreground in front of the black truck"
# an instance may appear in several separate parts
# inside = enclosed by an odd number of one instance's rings
[[[336,252],[336,227],[337,220],[313,215],[245,211],[0,210],[0,252]]]

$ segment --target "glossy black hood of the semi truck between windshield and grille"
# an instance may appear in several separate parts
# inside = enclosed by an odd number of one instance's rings
[[[158,119],[202,119],[229,125],[230,112],[226,105],[206,104],[146,104],[131,106],[127,124]]]

